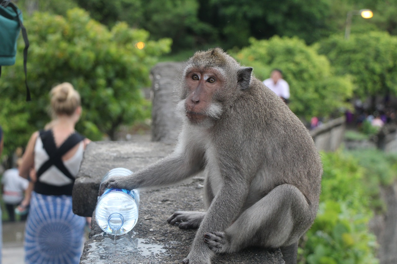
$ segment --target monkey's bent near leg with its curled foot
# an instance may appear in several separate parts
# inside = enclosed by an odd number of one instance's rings
[[[249,246],[287,247],[310,227],[312,210],[297,187],[283,184],[245,210],[224,232],[206,233],[204,240],[215,253],[236,252]]]

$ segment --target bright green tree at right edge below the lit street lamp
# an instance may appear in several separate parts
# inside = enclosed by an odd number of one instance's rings
[[[331,36],[318,43],[337,75],[350,74],[355,94],[362,98],[378,94],[397,95],[397,37],[385,32],[351,34],[349,40]],[[360,51],[360,52],[357,52]]]

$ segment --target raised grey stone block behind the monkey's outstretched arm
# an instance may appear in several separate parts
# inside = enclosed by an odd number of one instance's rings
[[[173,145],[160,142],[91,142],[73,186],[73,212],[92,216],[102,177],[112,168],[137,171],[172,152]]]

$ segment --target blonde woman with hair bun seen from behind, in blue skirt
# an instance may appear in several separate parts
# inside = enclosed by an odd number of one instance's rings
[[[79,263],[85,218],[72,212],[72,188],[83,151],[90,142],[75,131],[81,100],[64,82],[50,92],[52,121],[32,134],[19,173],[31,179],[29,216],[25,228],[25,263]],[[34,175],[34,174],[33,174]]]

